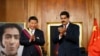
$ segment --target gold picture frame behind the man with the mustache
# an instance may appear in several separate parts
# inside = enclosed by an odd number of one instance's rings
[[[77,24],[78,26],[79,26],[79,31],[80,31],[80,36],[79,36],[79,46],[80,47],[82,47],[82,22],[73,22],[74,24]],[[59,25],[61,25],[61,23],[60,22],[48,22],[47,23],[47,38],[48,38],[48,41],[47,41],[47,43],[48,43],[48,50],[47,50],[47,56],[52,56],[51,55],[51,42],[50,42],[50,28],[51,28],[51,26],[59,26]]]

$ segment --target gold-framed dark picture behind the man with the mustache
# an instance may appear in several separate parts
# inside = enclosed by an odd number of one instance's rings
[[[79,46],[82,47],[82,22],[73,22],[73,23],[79,26],[79,31],[80,31]],[[57,47],[55,48],[55,45],[53,44],[52,36],[56,33],[54,30],[56,30],[59,25],[61,25],[61,23],[59,22],[47,23],[47,38],[48,38],[47,56],[56,56],[54,49],[56,49]]]

